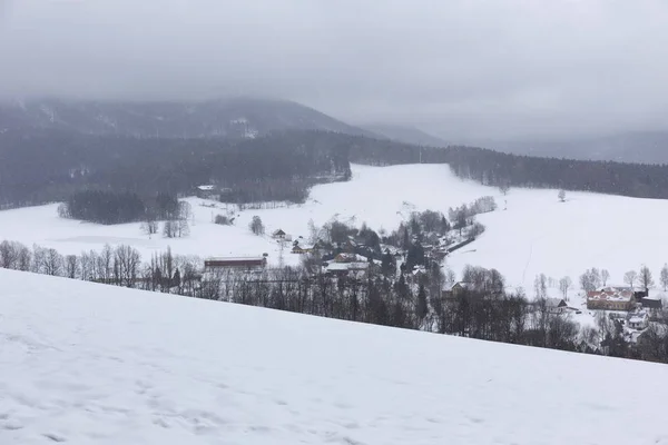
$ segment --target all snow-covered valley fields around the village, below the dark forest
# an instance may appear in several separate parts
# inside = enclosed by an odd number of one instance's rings
[[[587,192],[568,192],[560,202],[557,190],[511,189],[501,196],[495,188],[462,181],[445,165],[394,167],[353,166],[353,180],[317,186],[303,206],[245,210],[234,227],[212,222],[218,209],[195,210],[191,235],[184,239],[148,239],[139,224],[97,226],[58,218],[56,205],[0,211],[0,238],[57,248],[62,254],[100,249],[105,243],[131,244],[145,256],[171,246],[178,254],[206,256],[269,254],[278,261],[278,248],[268,236],[249,234],[254,215],[262,217],[267,234],[283,228],[293,236],[308,236],[308,220],[317,226],[332,218],[372,228],[394,229],[413,210],[442,210],[481,196],[497,198],[500,209],[479,220],[487,233],[453,254],[449,266],[460,271],[466,264],[499,269],[512,286],[532,289],[536,275],[559,279],[578,276],[590,267],[606,268],[611,283],[622,284],[627,270],[646,264],[658,276],[668,261],[668,201],[633,199]],[[507,207],[507,210],[504,208]],[[286,251],[286,264],[298,260]]]

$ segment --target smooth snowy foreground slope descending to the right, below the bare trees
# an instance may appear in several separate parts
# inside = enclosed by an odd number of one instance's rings
[[[668,444],[665,365],[0,285],[0,444]]]

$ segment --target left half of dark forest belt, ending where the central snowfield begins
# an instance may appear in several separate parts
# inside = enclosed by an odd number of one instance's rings
[[[82,189],[184,195],[210,182],[236,190],[242,201],[299,201],[316,181],[350,176],[347,147],[318,144],[313,135],[230,140],[6,131],[0,206],[63,200]]]

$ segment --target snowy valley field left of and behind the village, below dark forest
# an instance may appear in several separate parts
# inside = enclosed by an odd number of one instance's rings
[[[405,178],[397,181],[397,178]],[[455,189],[456,188],[456,189]],[[425,190],[438,190],[436,194]],[[450,190],[441,195],[440,190]],[[58,205],[0,211],[0,239],[33,243],[58,249],[61,254],[80,254],[86,249],[101,249],[111,245],[130,244],[148,257],[167,246],[177,254],[206,256],[239,256],[269,254],[269,261],[278,260],[278,247],[269,236],[256,237],[248,230],[254,215],[262,217],[266,233],[282,228],[293,237],[308,236],[308,220],[322,226],[332,218],[371,227],[394,229],[409,218],[411,211],[438,207],[448,209],[463,200],[472,200],[489,192],[473,182],[460,182],[448,166],[403,166],[374,168],[353,166],[353,180],[317,186],[303,206],[289,206],[267,210],[235,212],[234,226],[212,222],[217,214],[225,214],[225,205],[189,198],[195,214],[190,236],[166,239],[154,235],[150,239],[140,230],[139,222],[101,226],[58,217]],[[216,208],[204,207],[217,205]],[[230,210],[234,206],[229,207]],[[286,253],[285,261],[298,258]]]

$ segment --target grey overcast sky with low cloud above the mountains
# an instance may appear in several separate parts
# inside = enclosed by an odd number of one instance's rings
[[[659,129],[667,23],[666,0],[0,0],[0,96],[273,96],[448,138]]]

